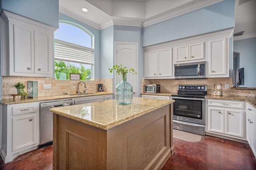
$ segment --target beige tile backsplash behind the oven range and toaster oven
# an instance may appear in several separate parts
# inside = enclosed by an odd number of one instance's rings
[[[222,84],[223,96],[248,96],[256,97],[256,90],[236,90],[232,89],[232,78],[207,78],[207,79],[144,79],[141,80],[141,92],[143,92],[144,84],[160,84],[160,92],[163,93],[176,93],[177,85],[207,85],[207,94],[213,95],[214,84]],[[225,88],[229,86],[228,88]]]

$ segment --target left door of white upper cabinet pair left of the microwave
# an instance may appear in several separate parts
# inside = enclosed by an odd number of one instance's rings
[[[144,74],[145,77],[157,76],[157,52],[144,53]]]

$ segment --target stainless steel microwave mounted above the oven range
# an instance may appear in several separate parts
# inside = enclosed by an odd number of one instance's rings
[[[206,61],[174,64],[174,78],[206,78]]]

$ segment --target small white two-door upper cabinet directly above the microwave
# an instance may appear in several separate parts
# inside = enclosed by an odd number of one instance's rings
[[[204,42],[175,47],[176,62],[204,59]]]

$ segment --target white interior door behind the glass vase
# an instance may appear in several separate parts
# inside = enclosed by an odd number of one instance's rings
[[[115,64],[134,68],[138,73],[138,43],[115,42]],[[121,75],[115,74],[114,87],[121,82]],[[127,82],[132,84],[133,97],[138,97],[138,74],[127,74]]]

